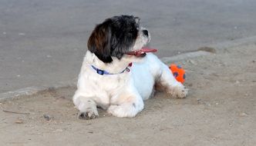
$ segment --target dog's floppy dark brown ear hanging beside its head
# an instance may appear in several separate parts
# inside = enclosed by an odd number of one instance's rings
[[[89,37],[87,47],[89,51],[94,53],[101,61],[110,63],[111,58],[111,31],[107,25],[97,25]]]

